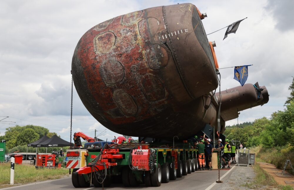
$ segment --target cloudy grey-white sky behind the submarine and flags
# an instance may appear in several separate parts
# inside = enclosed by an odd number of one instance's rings
[[[294,76],[294,1],[0,1],[0,135],[14,125],[40,125],[69,141],[71,59],[78,40],[91,27],[113,17],[154,6],[190,2],[208,15],[202,20],[209,34],[241,22],[236,34],[223,40],[225,29],[208,35],[216,42],[220,68],[251,65],[247,83],[265,85],[270,100],[242,111],[239,123],[283,110]],[[233,68],[222,69],[221,90],[238,86]],[[0,117],[0,120],[4,117]],[[15,123],[9,124],[13,121]],[[237,119],[227,125],[237,123]],[[9,125],[8,125],[9,124]],[[73,132],[94,136],[103,131],[84,108],[76,91]],[[97,134],[100,132],[97,132]],[[116,133],[106,129],[99,138]]]

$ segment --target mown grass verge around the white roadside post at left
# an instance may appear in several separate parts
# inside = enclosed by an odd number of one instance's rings
[[[10,163],[0,164],[0,188],[10,185]],[[50,179],[60,179],[69,175],[68,169],[36,169],[32,165],[15,165],[14,184],[28,184],[35,181],[45,181]]]

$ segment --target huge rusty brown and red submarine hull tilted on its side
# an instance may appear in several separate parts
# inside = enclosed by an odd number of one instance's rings
[[[117,16],[89,29],[74,51],[72,76],[91,115],[128,136],[185,139],[207,124],[217,127],[218,64],[204,17],[193,4],[177,4]],[[238,111],[268,101],[266,88],[258,92],[261,99],[251,84],[222,93],[223,125]]]

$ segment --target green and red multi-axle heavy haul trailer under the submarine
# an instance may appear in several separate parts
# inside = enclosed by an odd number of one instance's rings
[[[197,150],[188,143],[128,143],[101,149],[67,151],[67,168],[73,168],[74,187],[110,186],[122,182],[124,186],[160,186],[177,177],[197,171]]]

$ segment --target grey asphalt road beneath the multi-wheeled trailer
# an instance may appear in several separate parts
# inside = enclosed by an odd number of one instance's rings
[[[233,166],[233,165],[232,165]],[[233,166],[230,170],[221,170],[220,171],[220,180],[227,181],[230,175],[234,172],[235,167]],[[141,184],[139,187],[124,187],[123,184],[111,184],[111,187],[105,187],[104,189],[118,190],[118,189],[168,189],[168,190],[184,190],[184,189],[221,189],[222,184],[217,184],[215,181],[218,180],[218,170],[213,171],[195,171],[192,174],[177,178],[174,181],[169,181],[169,183],[161,184],[160,187],[145,187],[144,184]],[[22,186],[9,187],[5,189],[10,190],[31,190],[31,189],[42,189],[42,190],[57,190],[57,189],[75,189],[71,183],[71,178],[56,179],[52,181],[43,181],[34,184],[27,184]],[[95,188],[93,184],[89,188],[77,188],[77,189],[102,189]]]

